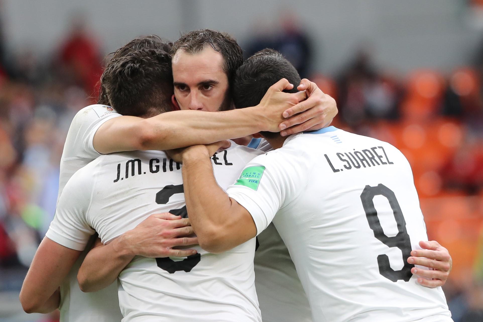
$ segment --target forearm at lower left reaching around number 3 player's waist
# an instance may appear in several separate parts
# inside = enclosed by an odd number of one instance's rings
[[[126,247],[126,234],[107,245],[93,248],[85,256],[77,280],[83,292],[96,292],[111,285],[133,259]]]

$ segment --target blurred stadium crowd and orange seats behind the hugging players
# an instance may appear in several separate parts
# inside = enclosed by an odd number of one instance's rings
[[[482,0],[84,2],[0,0],[0,321],[58,319],[23,314],[18,292],[105,55],[195,28],[229,32],[246,56],[279,50],[336,99],[333,125],[407,156],[428,236],[454,260],[453,319],[483,321]]]

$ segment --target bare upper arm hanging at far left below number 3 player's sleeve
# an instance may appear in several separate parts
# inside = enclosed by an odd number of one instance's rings
[[[25,312],[48,313],[58,308],[58,288],[80,253],[43,238],[20,291]]]

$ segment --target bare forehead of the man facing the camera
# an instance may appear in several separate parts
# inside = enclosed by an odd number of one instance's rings
[[[194,54],[178,49],[172,58],[172,68],[175,82],[187,84],[187,79],[198,82],[207,77],[226,78],[223,56],[210,45]]]

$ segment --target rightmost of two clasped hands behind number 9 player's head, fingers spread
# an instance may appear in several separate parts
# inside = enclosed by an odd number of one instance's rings
[[[308,98],[287,109],[283,116],[290,117],[280,124],[280,134],[284,137],[298,132],[319,130],[328,126],[337,115],[335,99],[324,94],[317,84],[304,78],[297,89],[305,90]]]

